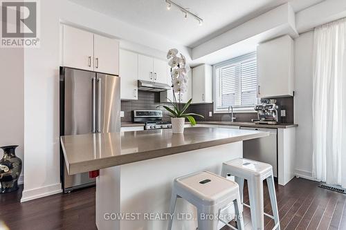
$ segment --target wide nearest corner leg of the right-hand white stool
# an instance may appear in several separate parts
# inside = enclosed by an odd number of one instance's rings
[[[251,222],[253,229],[264,229],[263,181],[260,178],[248,180],[250,198]]]

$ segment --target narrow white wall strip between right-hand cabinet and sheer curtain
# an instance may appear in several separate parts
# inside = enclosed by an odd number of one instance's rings
[[[295,39],[295,97],[296,129],[295,173],[311,179],[312,172],[312,88],[313,31]]]

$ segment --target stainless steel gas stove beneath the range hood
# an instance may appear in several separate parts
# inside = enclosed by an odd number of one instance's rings
[[[162,111],[134,111],[134,122],[145,123],[146,130],[172,128],[171,122],[163,122],[162,117]]]

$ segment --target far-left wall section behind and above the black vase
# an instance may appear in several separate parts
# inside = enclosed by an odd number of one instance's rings
[[[16,153],[23,160],[24,50],[0,48],[0,60],[0,146],[18,144]],[[0,150],[2,157],[3,152]],[[22,177],[19,178],[21,182]]]

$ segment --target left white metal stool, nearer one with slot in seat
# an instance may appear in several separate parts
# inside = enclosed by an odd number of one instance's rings
[[[219,219],[221,211],[232,204],[237,215],[238,229],[244,229],[244,221],[239,212],[241,204],[239,186],[235,182],[208,171],[199,171],[174,180],[170,204],[171,215],[174,214],[176,198],[183,198],[197,207],[199,230],[217,230],[219,221],[236,229],[228,222]],[[172,229],[172,222],[173,218],[170,219],[168,230]]]

